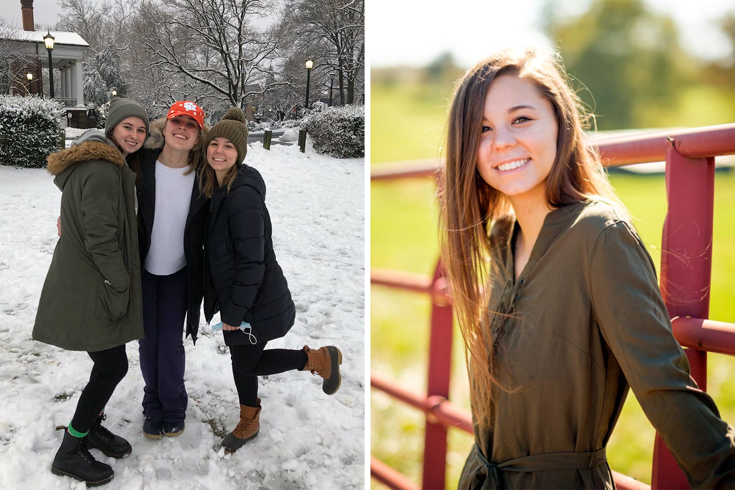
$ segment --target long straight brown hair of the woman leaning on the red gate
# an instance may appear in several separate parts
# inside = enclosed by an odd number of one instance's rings
[[[615,197],[600,157],[585,145],[583,129],[591,116],[570,88],[558,56],[537,48],[500,51],[478,62],[457,82],[449,111],[446,165],[440,174],[442,262],[451,285],[454,309],[465,339],[470,372],[470,400],[476,422],[490,425],[492,392],[507,389],[498,381],[498,364],[489,311],[492,274],[490,251],[497,245],[490,231],[495,221],[512,217],[506,195],[480,176],[476,162],[487,91],[497,76],[511,73],[533,82],[556,113],[556,158],[546,179],[551,208],[602,198],[625,207]]]

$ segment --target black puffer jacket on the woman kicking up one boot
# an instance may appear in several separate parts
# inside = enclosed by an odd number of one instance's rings
[[[284,336],[293,325],[295,308],[286,278],[273,253],[265,182],[243,164],[229,194],[220,187],[212,195],[207,226],[204,317],[220,311],[222,321],[252,325],[258,343]],[[249,343],[243,331],[225,331],[226,345]]]

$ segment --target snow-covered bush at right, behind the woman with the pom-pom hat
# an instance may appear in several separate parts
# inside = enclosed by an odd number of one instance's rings
[[[329,107],[304,118],[301,127],[311,137],[314,149],[337,158],[365,156],[365,108]]]

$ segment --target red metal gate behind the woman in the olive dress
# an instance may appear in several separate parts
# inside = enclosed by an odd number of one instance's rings
[[[735,154],[735,124],[684,131],[642,134],[600,140],[595,143],[603,162],[618,167],[634,163],[666,161],[668,211],[661,249],[661,294],[673,319],[674,336],[689,357],[692,377],[706,390],[707,352],[735,356],[735,324],[708,320],[711,277],[712,217],[714,214],[714,157]],[[434,176],[437,167],[412,165],[373,171],[371,180]],[[674,198],[676,197],[676,198]],[[689,261],[675,257],[690,257]],[[370,386],[426,413],[423,482],[421,488],[445,488],[446,430],[456,427],[472,433],[470,414],[449,401],[452,309],[447,281],[437,262],[433,278],[392,270],[370,271],[370,283],[429,294],[431,334],[429,378],[426,394],[415,394],[392,380],[370,373]],[[671,291],[698,294],[671,300]],[[681,296],[681,295],[679,295]],[[417,489],[415,483],[371,457],[370,474],[392,489]],[[613,472],[619,489],[689,488],[673,456],[656,435],[651,487]]]

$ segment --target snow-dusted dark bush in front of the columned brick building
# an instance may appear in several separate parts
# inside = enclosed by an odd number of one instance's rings
[[[64,114],[54,99],[0,96],[0,164],[46,167],[60,149]]]

